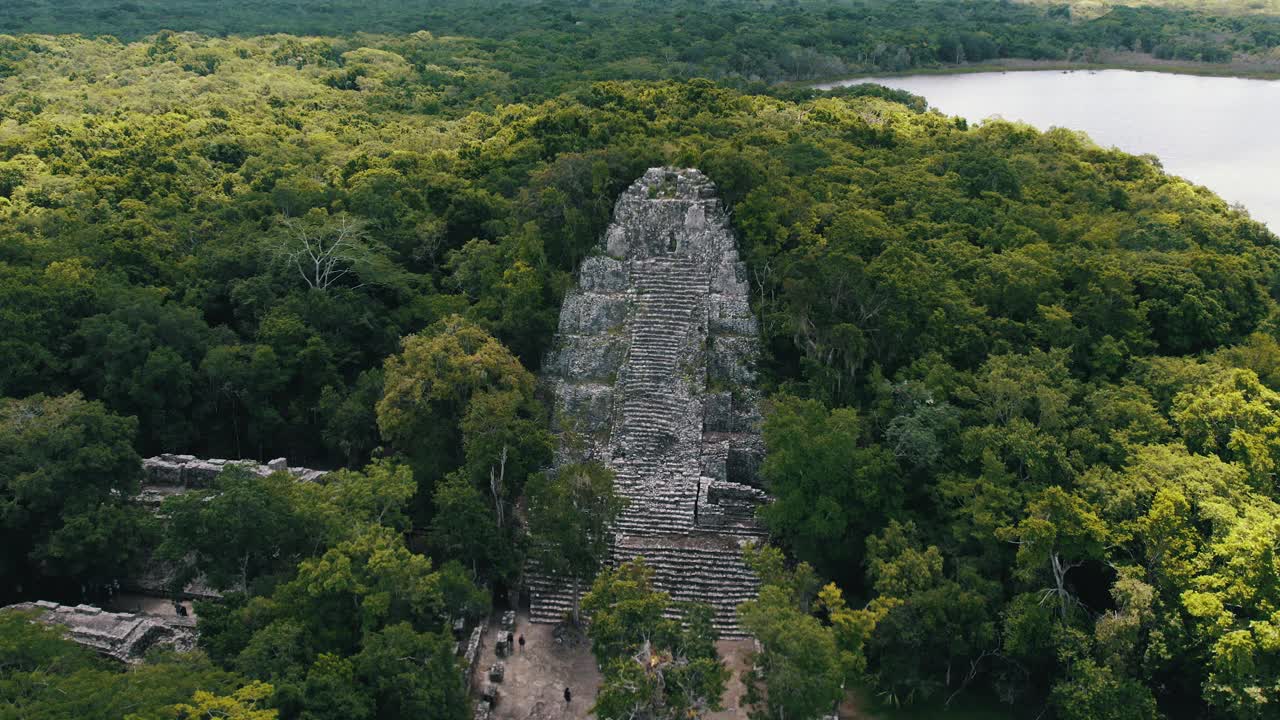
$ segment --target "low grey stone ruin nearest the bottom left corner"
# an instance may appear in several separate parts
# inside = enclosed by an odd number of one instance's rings
[[[120,662],[141,662],[152,647],[187,652],[196,647],[195,618],[106,612],[92,605],[38,601],[10,605],[3,611],[35,611],[36,621],[63,625],[67,637]]]

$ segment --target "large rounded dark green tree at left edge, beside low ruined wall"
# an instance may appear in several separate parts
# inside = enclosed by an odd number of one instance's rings
[[[123,573],[142,539],[137,423],[78,392],[0,400],[0,593],[65,596]]]

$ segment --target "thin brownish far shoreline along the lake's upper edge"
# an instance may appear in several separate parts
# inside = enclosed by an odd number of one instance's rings
[[[838,78],[788,82],[783,85],[812,87],[815,90],[832,90],[835,87],[841,87],[845,85],[856,85],[852,81],[863,78],[955,76],[955,74],[977,74],[977,73],[997,73],[997,72],[1021,73],[1021,72],[1044,72],[1044,70],[1064,70],[1064,72],[1132,70],[1139,73],[1149,72],[1149,73],[1166,73],[1176,76],[1280,81],[1280,68],[1270,69],[1254,65],[1243,65],[1238,63],[1225,63],[1225,64],[1179,63],[1179,61],[1165,61],[1155,59],[1151,59],[1148,61],[1119,60],[1119,61],[1075,63],[1075,61],[1059,61],[1059,60],[1025,60],[1018,58],[1006,58],[998,60],[983,60],[980,63],[968,63],[964,65],[942,65],[931,68],[913,68],[909,70],[882,70],[882,72],[856,73],[851,76],[842,76]]]

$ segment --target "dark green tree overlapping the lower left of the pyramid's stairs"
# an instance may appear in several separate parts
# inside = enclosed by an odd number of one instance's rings
[[[540,571],[568,580],[573,623],[581,623],[580,588],[609,552],[609,528],[625,500],[613,489],[613,471],[595,462],[564,465],[530,478],[529,547]]]

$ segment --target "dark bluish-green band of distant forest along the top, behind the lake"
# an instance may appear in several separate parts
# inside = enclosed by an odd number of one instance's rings
[[[509,76],[521,97],[584,79],[751,83],[992,59],[1100,61],[1114,53],[1262,67],[1280,60],[1280,17],[1213,10],[1153,4],[1100,13],[1078,1],[1007,0],[29,0],[0,6],[0,33],[134,41],[160,29],[428,31],[453,38],[456,60]],[[408,59],[416,69],[426,60]]]

